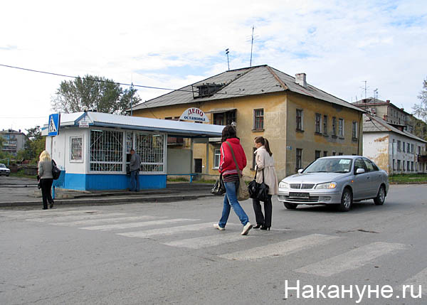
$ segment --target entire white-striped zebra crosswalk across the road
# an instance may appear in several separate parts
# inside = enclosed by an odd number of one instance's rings
[[[346,237],[327,234],[306,234],[289,237],[288,230],[252,230],[241,236],[241,224],[228,223],[225,231],[215,230],[214,221],[196,218],[169,218],[157,215],[130,215],[111,213],[108,210],[56,209],[48,213],[41,211],[2,211],[0,219],[8,217],[30,221],[36,225],[56,225],[76,228],[87,232],[105,232],[130,238],[149,238],[160,245],[188,250],[215,247],[215,256],[224,261],[259,261],[283,259],[304,251],[314,252],[317,247],[332,245]],[[268,236],[268,238],[265,238]],[[251,238],[260,243],[250,242]],[[266,240],[268,240],[266,242]],[[248,245],[258,245],[256,247]],[[400,255],[408,247],[396,242],[370,242],[341,254],[332,254],[327,259],[310,257],[311,262],[296,266],[296,274],[317,277],[333,277],[342,272],[352,272],[387,255]],[[325,247],[323,247],[325,250]],[[427,285],[427,268],[406,279],[402,284]]]

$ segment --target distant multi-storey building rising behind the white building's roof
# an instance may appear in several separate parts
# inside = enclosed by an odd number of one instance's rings
[[[412,114],[406,112],[404,108],[399,108],[390,100],[378,100],[374,97],[368,97],[354,102],[353,105],[366,110],[371,115],[384,119],[387,123],[400,129],[404,127],[407,132],[413,133]]]

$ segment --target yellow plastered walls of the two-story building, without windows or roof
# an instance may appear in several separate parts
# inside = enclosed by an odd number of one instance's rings
[[[211,109],[236,108],[237,137],[241,139],[241,144],[248,160],[248,166],[243,170],[246,180],[253,178],[254,171],[251,171],[253,159],[253,139],[263,136],[268,139],[270,149],[273,151],[275,159],[275,169],[279,180],[285,176],[295,173],[295,148],[302,148],[302,164],[306,166],[315,159],[315,150],[328,151],[328,156],[332,155],[332,150],[343,152],[344,154],[357,154],[357,141],[352,141],[352,121],[357,121],[359,134],[362,130],[362,114],[352,109],[344,107],[333,107],[332,104],[316,100],[312,97],[296,95],[289,92],[278,92],[277,94],[255,95],[247,97],[236,97],[226,100],[215,100],[207,102],[194,102],[184,105],[172,105],[150,109],[134,110],[137,117],[153,117],[164,119],[165,117],[179,117],[182,112],[190,107],[198,107],[205,113]],[[264,130],[253,130],[253,110],[264,109]],[[297,108],[304,109],[304,133],[295,132]],[[332,132],[332,117],[344,118],[344,140],[326,138],[314,134],[315,113],[328,115],[328,132]],[[211,123],[214,114],[207,113]],[[338,121],[337,121],[338,132]],[[360,136],[359,136],[360,137]],[[183,149],[190,149],[190,141],[185,141]],[[362,147],[362,139],[359,141]],[[292,149],[287,149],[291,146]],[[219,149],[219,143],[209,144],[209,174],[218,175],[218,170],[214,169],[214,149]],[[359,154],[362,149],[359,149]],[[193,159],[202,159],[202,173],[206,173],[206,144],[194,144]]]

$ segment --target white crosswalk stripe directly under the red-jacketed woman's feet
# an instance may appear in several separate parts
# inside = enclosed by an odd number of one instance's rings
[[[204,247],[212,247],[217,245],[226,244],[228,242],[236,242],[244,239],[240,234],[227,233],[223,234],[218,232],[216,235],[189,238],[186,240],[174,240],[173,242],[163,242],[164,245],[172,247],[186,247],[191,249],[201,249]]]

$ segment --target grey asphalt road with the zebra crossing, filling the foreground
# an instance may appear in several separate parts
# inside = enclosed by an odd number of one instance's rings
[[[0,304],[426,304],[427,186],[391,186],[384,205],[348,213],[273,198],[272,230],[248,236],[233,212],[215,230],[221,209],[222,198],[4,208]]]

